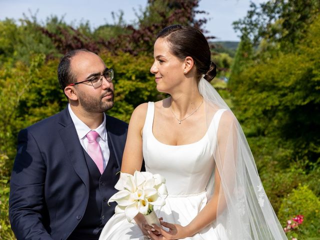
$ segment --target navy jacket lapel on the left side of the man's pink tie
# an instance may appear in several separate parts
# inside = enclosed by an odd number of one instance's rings
[[[64,126],[59,130],[61,140],[76,174],[81,178],[86,188],[89,189],[89,172],[75,126],[67,108],[61,113],[59,124]]]

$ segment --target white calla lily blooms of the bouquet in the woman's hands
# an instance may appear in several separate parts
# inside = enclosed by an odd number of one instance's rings
[[[120,172],[120,178],[115,184],[119,190],[113,194],[109,202],[116,201],[115,213],[124,212],[131,222],[138,212],[148,215],[153,206],[163,206],[167,190],[164,177],[147,171],[135,171],[133,175]]]

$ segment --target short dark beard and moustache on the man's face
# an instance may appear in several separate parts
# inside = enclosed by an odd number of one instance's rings
[[[112,92],[112,98],[104,99],[106,93]],[[80,93],[79,102],[84,110],[87,112],[104,112],[113,106],[113,97],[114,91],[110,88],[106,90],[103,94],[98,97],[93,97],[85,94],[84,92]]]

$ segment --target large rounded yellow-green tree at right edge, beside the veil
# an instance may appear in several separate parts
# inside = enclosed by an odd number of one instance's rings
[[[298,159],[310,162],[320,157],[319,29],[315,20],[294,52],[260,53],[245,68],[233,68],[229,85],[252,132],[281,137]]]

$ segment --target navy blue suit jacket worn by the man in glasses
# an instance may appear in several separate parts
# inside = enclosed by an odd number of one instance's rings
[[[106,130],[120,169],[127,123],[106,115]],[[84,214],[88,184],[82,146],[67,108],[22,129],[9,197],[17,239],[66,239]]]

